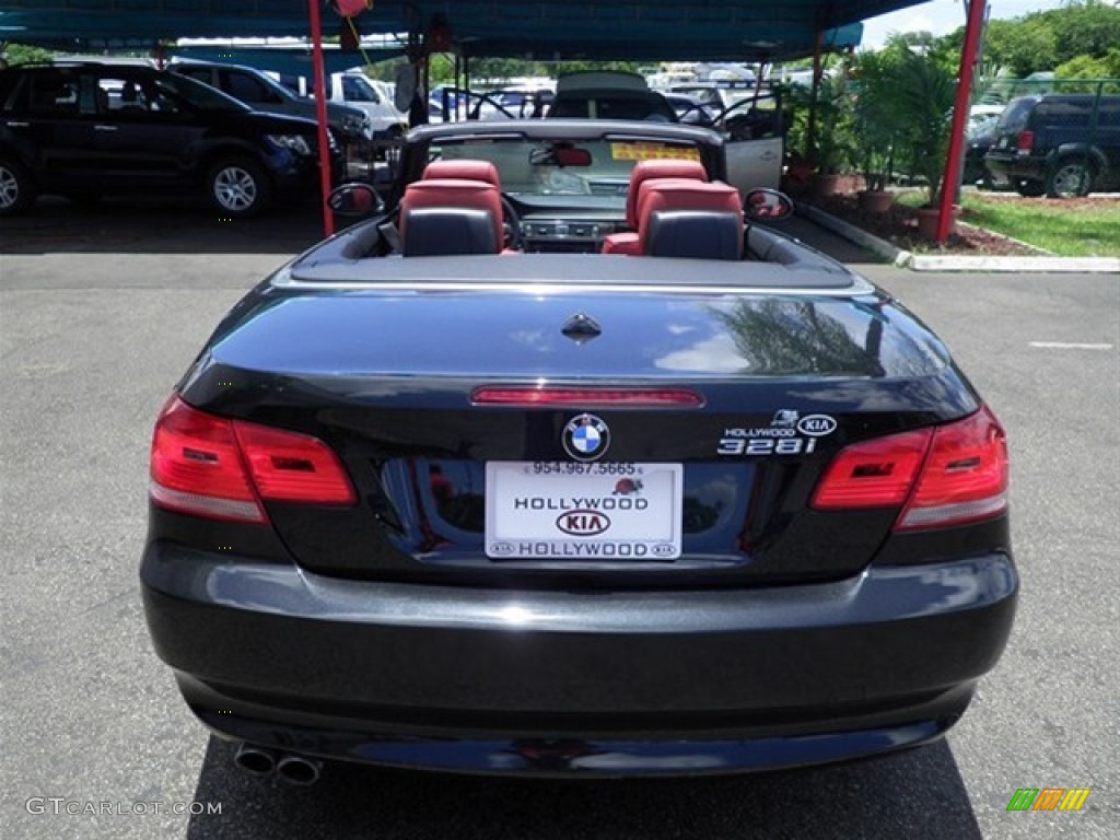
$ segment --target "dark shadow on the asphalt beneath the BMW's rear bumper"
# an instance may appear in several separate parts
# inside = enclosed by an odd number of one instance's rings
[[[190,840],[329,837],[393,840],[741,840],[980,838],[942,740],[907,753],[786,773],[661,780],[520,780],[328,764],[311,787],[261,781],[211,738]]]

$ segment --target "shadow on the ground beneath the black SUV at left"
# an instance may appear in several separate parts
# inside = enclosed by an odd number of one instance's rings
[[[7,217],[2,225],[2,254],[297,254],[324,237],[323,213],[314,202],[280,205],[258,218],[228,220],[189,198],[75,204],[46,197],[30,213]]]

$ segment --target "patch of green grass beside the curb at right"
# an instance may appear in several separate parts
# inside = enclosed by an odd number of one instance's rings
[[[961,197],[961,221],[1058,256],[1120,256],[1120,200]]]

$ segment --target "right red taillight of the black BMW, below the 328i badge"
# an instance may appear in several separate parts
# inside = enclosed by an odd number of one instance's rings
[[[842,449],[813,494],[816,510],[898,507],[896,531],[945,528],[1007,510],[1007,439],[987,408],[946,426]]]

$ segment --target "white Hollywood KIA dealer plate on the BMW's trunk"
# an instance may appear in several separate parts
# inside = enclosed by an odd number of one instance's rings
[[[681,556],[681,464],[486,464],[495,560],[660,561]]]

